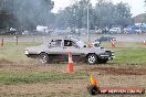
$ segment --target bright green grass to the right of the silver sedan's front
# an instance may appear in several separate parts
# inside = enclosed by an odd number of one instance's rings
[[[143,45],[143,43],[117,42],[115,48],[111,48],[109,43],[103,43],[102,46],[115,52],[115,58],[109,63],[146,64],[146,45]]]

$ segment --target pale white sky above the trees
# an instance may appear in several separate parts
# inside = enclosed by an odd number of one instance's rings
[[[75,0],[53,0],[54,1],[54,9],[53,12],[58,12],[58,10],[64,9],[65,7],[70,6]],[[144,13],[146,11],[146,7],[144,7],[144,0],[112,0],[114,3],[119,1],[126,2],[132,8],[133,17],[139,13]],[[93,6],[95,4],[96,0],[91,0]]]

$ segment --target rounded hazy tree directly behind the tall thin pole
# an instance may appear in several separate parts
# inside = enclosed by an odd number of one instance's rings
[[[90,7],[90,24],[93,22],[93,8]],[[80,0],[73,3],[72,6],[60,10],[56,17],[56,24],[63,25],[64,28],[86,28],[87,24],[87,0]]]

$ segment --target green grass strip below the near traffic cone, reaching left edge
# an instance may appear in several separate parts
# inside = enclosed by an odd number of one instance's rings
[[[4,85],[10,84],[31,84],[40,82],[53,82],[63,79],[84,79],[87,78],[87,73],[74,72],[72,74],[62,72],[0,72],[0,83]]]

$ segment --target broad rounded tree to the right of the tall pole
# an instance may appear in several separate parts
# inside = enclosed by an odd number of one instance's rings
[[[100,28],[122,25],[132,23],[131,9],[127,3],[113,4],[107,0],[98,0],[95,6],[95,24]]]

